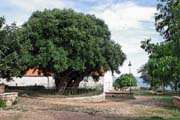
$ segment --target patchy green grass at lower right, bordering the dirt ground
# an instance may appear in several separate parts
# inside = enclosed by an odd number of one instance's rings
[[[157,94],[150,90],[137,90],[137,95],[149,96],[158,109],[149,109],[144,111],[141,117],[135,120],[180,120],[180,109],[175,108],[172,103],[172,97],[175,94],[164,93]]]

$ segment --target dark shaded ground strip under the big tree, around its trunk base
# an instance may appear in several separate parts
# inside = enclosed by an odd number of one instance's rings
[[[75,97],[102,94],[102,90],[95,88],[78,88],[76,93],[60,95],[54,88],[44,86],[6,86],[6,92],[18,92],[22,97]]]

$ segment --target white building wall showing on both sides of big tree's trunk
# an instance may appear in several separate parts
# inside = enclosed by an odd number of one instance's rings
[[[5,79],[0,79],[0,84],[4,83],[8,86],[35,86],[40,85],[46,88],[53,88],[55,81],[53,77],[22,77],[16,78],[7,82]],[[99,81],[95,82],[92,77],[85,77],[85,80],[80,82],[81,88],[97,88],[103,86],[103,91],[110,92],[113,90],[113,77],[110,71],[106,72],[104,77],[100,77]]]

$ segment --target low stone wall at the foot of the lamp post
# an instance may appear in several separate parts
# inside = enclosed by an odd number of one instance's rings
[[[106,92],[106,99],[134,99],[134,93],[129,92]]]

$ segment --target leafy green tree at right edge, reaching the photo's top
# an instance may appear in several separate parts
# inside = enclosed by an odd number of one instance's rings
[[[178,68],[180,63],[180,1],[158,0],[157,10],[155,15],[156,30],[165,41],[156,45],[144,41],[141,47],[145,51],[151,51],[148,61],[149,74],[156,78],[160,85],[171,85],[175,90],[178,90],[180,89]]]

